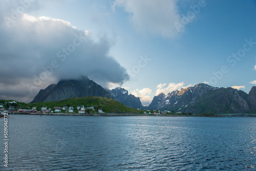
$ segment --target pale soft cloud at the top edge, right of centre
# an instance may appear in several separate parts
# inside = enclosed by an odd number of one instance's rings
[[[115,0],[114,2],[115,6],[123,6],[126,12],[132,13],[130,19],[138,31],[169,38],[178,34],[174,23],[181,23],[176,3],[177,0]]]

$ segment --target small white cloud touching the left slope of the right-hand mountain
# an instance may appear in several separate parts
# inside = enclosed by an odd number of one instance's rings
[[[188,85],[188,87],[190,86],[191,84]],[[166,83],[162,84],[158,84],[157,86],[157,90],[156,90],[156,96],[159,95],[160,93],[163,93],[165,95],[167,95],[168,93],[171,93],[175,90],[180,90],[180,89],[184,89],[186,87],[184,87],[184,82],[180,82],[180,83],[169,83],[168,86],[166,87]]]

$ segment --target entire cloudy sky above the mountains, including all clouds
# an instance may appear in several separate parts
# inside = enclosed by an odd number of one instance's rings
[[[0,0],[0,99],[88,75],[153,97],[256,84],[256,1]]]

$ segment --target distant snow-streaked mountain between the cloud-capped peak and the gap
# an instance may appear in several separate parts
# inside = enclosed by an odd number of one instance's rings
[[[112,90],[106,89],[116,101],[123,103],[130,108],[143,109],[144,106],[141,104],[140,98],[135,97],[132,94],[128,94],[128,91],[123,88],[115,88]]]

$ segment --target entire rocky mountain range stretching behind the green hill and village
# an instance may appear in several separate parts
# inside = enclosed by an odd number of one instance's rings
[[[216,88],[200,83],[195,87],[155,96],[147,107],[140,98],[123,88],[104,89],[88,77],[60,80],[40,90],[34,102],[59,101],[71,97],[98,96],[115,99],[131,108],[184,113],[256,113],[256,87],[249,94],[232,88]]]

